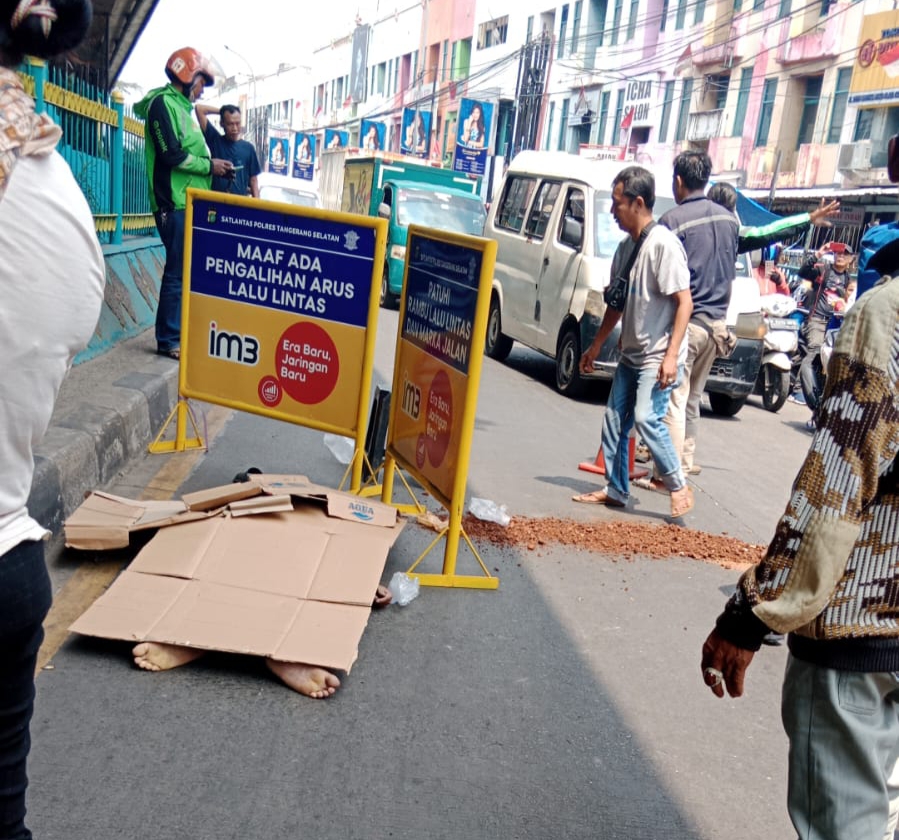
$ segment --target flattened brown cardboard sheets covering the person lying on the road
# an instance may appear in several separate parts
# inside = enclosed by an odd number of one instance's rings
[[[131,531],[159,531],[71,630],[349,671],[402,527],[393,508],[303,476],[181,502],[92,493],[66,522],[67,545],[117,548]]]

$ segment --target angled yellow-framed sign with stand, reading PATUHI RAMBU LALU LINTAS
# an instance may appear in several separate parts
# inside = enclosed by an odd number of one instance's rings
[[[382,499],[398,464],[449,511],[443,574],[419,575],[424,584],[498,584],[483,563],[485,577],[455,574],[460,536],[480,562],[462,509],[495,260],[492,240],[409,228]]]

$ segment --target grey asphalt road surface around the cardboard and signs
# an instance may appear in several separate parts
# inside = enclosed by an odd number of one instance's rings
[[[396,319],[381,313],[383,384]],[[150,347],[136,340],[128,364]],[[667,497],[647,491],[626,511],[571,503],[596,483],[577,465],[596,454],[603,392],[561,397],[552,370],[520,348],[486,361],[470,495],[514,516],[664,522]],[[208,452],[133,459],[105,486],[181,495],[248,466],[339,482],[320,432],[199,408]],[[770,414],[758,398],[736,418],[704,415],[686,527],[766,542],[810,442],[806,417],[789,404]],[[384,582],[432,536],[408,526]],[[791,836],[784,648],[763,648],[736,701],[715,699],[700,675],[700,646],[739,570],[649,559],[638,545],[628,557],[478,547],[499,589],[424,588],[373,613],[327,701],[291,692],[251,657],[139,671],[129,644],[66,636],[57,621],[32,725],[35,837]],[[54,556],[57,616],[77,615],[133,553]],[[422,571],[439,570],[439,556],[427,562]],[[475,573],[470,557],[459,563]]]

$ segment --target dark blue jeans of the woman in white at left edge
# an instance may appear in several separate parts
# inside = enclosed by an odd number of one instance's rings
[[[0,557],[0,838],[31,840],[25,828],[25,765],[31,749],[34,669],[52,599],[44,544],[23,542]]]

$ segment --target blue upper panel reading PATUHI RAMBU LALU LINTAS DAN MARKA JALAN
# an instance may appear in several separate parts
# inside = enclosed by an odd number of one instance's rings
[[[409,237],[401,337],[463,374],[470,362],[483,257],[471,247]]]

